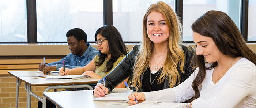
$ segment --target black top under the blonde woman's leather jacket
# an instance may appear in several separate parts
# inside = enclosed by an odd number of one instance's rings
[[[143,80],[142,80],[142,87],[144,88],[144,90],[146,92],[158,91],[158,90],[163,89],[164,81],[160,84],[157,84],[157,79],[160,77],[161,72],[162,72],[162,68],[160,70],[158,70],[157,73],[152,74],[150,71],[150,68],[149,67],[147,68],[146,72],[143,74]],[[150,89],[150,74],[151,74],[151,83],[152,83],[151,89]],[[153,80],[154,80],[154,82],[153,82]]]

